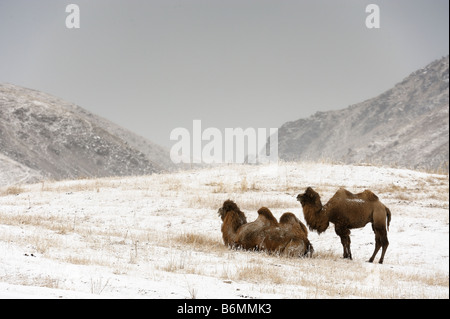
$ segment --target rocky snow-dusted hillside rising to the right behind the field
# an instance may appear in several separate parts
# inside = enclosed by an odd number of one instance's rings
[[[448,171],[449,57],[373,99],[285,123],[278,139],[279,156],[285,160]]]

